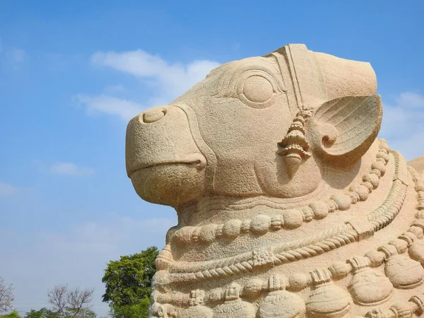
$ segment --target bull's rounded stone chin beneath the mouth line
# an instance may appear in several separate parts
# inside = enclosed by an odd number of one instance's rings
[[[177,207],[204,194],[205,177],[196,165],[158,165],[132,173],[131,182],[141,199]]]

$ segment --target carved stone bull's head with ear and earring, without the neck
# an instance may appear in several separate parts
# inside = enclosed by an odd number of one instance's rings
[[[382,103],[370,64],[286,45],[223,64],[126,131],[126,170],[146,201],[206,195],[291,198],[353,167],[375,141]]]

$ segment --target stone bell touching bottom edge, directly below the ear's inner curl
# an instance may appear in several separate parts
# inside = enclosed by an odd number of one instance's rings
[[[327,269],[311,272],[314,290],[306,301],[306,309],[311,318],[343,317],[351,309],[351,296],[331,282]]]

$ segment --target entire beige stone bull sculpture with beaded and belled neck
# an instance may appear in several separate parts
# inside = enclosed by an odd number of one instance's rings
[[[131,119],[134,188],[178,214],[151,317],[423,312],[424,158],[377,139],[376,90],[370,64],[286,45]]]

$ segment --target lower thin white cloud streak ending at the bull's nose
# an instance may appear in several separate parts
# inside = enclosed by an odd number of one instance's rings
[[[136,102],[123,100],[111,95],[90,96],[79,94],[76,95],[76,100],[86,105],[88,115],[105,113],[119,116],[126,121],[143,110],[143,106]]]

